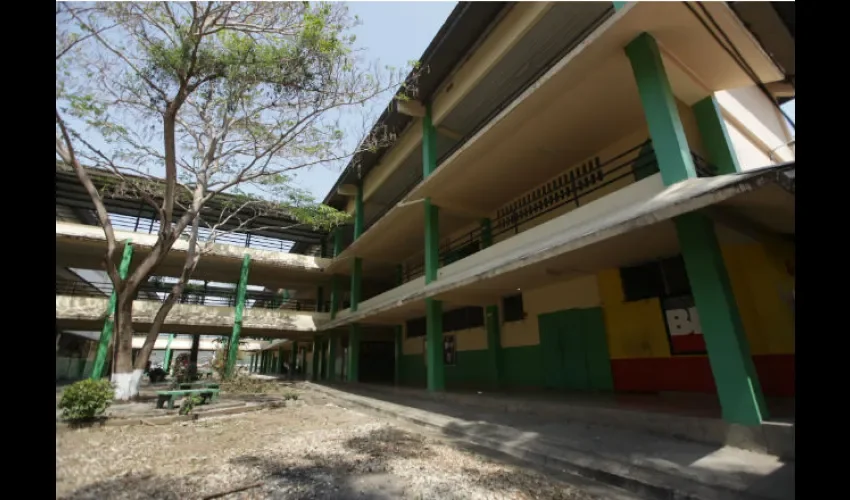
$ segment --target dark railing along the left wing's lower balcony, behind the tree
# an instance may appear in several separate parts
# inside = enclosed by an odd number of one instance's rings
[[[136,300],[164,301],[171,292],[173,285],[169,283],[145,283],[139,288]],[[57,295],[72,295],[79,297],[107,297],[112,293],[112,283],[95,283],[86,281],[56,280]],[[184,290],[178,304],[196,304],[205,306],[235,307],[236,290],[221,287],[208,287],[199,290],[190,285]],[[280,293],[266,290],[248,290],[245,293],[245,307],[261,309],[288,309],[293,311],[315,311],[316,301],[313,299],[285,299]],[[326,309],[329,310],[329,303]]]

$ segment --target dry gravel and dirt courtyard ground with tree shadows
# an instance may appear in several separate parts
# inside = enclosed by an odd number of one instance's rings
[[[57,430],[67,499],[563,499],[583,488],[315,397],[166,426]]]

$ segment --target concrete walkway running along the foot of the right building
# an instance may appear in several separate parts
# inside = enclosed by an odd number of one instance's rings
[[[523,413],[307,384],[343,405],[425,426],[472,445],[601,480],[649,498],[787,500],[794,462],[732,447]]]

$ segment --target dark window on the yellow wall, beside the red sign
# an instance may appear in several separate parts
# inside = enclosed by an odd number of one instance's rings
[[[626,302],[689,295],[691,284],[681,255],[620,269]]]

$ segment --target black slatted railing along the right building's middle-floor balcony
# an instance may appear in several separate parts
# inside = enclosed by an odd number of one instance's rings
[[[632,157],[635,153],[637,155]],[[714,165],[696,153],[691,152],[691,155],[699,177],[716,175],[717,168]],[[491,240],[495,241],[496,238],[510,231],[519,234],[520,226],[523,224],[564,206],[575,204],[579,207],[583,198],[615,182],[629,177],[642,179],[658,171],[658,159],[651,141],[645,141],[623,151],[604,163],[599,162],[598,158],[585,162],[497,211],[497,217],[491,221]],[[440,267],[480,250],[482,234],[481,227],[476,227],[443,244],[440,249]],[[477,247],[472,251],[464,251],[464,249],[471,249],[475,244]],[[418,262],[404,266],[402,279],[408,282],[424,273],[425,263]]]

